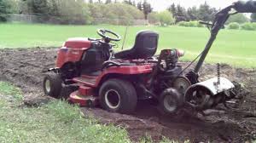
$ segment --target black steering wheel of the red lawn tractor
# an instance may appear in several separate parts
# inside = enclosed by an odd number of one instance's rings
[[[108,33],[113,35],[113,37],[109,37]],[[121,37],[119,36],[119,34],[113,32],[113,31],[106,30],[106,29],[98,29],[97,34],[99,36],[101,36],[106,43],[110,43],[111,41],[120,41],[121,40]]]

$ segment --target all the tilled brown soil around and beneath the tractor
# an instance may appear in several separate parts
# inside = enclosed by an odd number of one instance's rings
[[[20,87],[26,95],[44,96],[42,82],[49,67],[55,66],[57,49],[3,49],[0,50],[1,80]],[[187,63],[182,63],[184,66]],[[217,67],[206,64],[201,70],[201,80],[216,77]],[[93,115],[102,123],[122,126],[135,142],[145,135],[155,142],[166,136],[173,140],[190,142],[245,142],[256,140],[256,70],[221,65],[221,76],[245,85],[244,103],[237,109],[218,106],[207,117],[186,114],[165,117],[150,102],[139,102],[133,115],[110,113],[100,108],[81,108],[84,115]]]

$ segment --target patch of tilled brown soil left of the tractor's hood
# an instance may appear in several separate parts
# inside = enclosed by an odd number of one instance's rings
[[[42,93],[44,73],[55,66],[56,49],[3,49],[0,50],[0,72],[24,92]]]

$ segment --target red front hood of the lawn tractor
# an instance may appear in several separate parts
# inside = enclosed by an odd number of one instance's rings
[[[67,62],[81,60],[84,50],[90,49],[91,42],[87,38],[70,38],[59,49],[56,67],[61,68]]]

